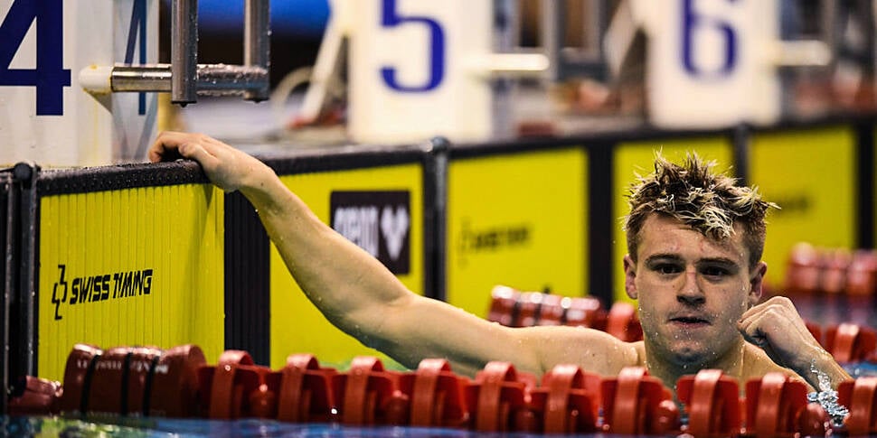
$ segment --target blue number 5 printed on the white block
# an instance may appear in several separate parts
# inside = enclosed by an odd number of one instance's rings
[[[422,23],[429,28],[429,80],[423,85],[401,85],[396,79],[396,69],[382,67],[381,77],[391,89],[404,92],[423,92],[439,87],[445,76],[445,33],[435,20],[422,16],[396,14],[396,0],[382,0],[381,25],[394,27],[403,23]]]

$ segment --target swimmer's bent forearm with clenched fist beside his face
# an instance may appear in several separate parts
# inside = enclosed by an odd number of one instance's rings
[[[820,386],[814,369],[828,377],[835,389],[852,378],[810,334],[795,304],[784,296],[752,307],[743,313],[738,326],[746,340],[764,349],[774,362],[804,377],[816,390]]]

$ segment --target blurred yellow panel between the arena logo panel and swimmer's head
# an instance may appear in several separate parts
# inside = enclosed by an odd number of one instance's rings
[[[588,156],[581,148],[448,164],[448,303],[482,318],[497,284],[589,291]]]

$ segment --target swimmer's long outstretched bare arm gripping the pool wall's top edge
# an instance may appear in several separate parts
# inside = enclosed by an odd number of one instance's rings
[[[413,294],[377,259],[316,218],[265,163],[207,135],[163,133],[149,150],[153,162],[178,155],[201,163],[224,191],[240,191],[250,200],[289,272],[330,322],[410,368],[421,359],[446,358],[468,375],[490,360],[536,374],[561,362],[614,374],[618,364],[637,360],[634,349],[605,333],[510,329]]]

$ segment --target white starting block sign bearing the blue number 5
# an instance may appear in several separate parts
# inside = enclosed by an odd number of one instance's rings
[[[476,65],[491,53],[491,1],[352,0],[343,7],[350,18],[352,138],[401,143],[491,135],[490,86]]]

